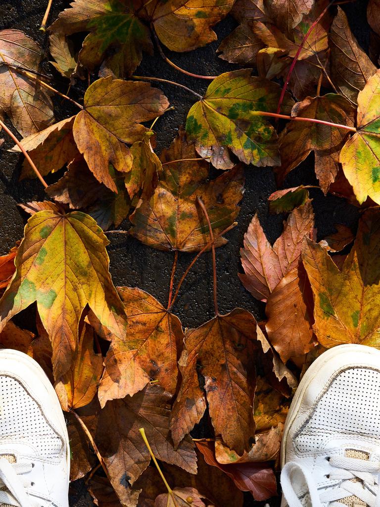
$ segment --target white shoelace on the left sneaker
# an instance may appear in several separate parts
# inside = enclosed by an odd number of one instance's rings
[[[22,474],[27,474],[33,468],[32,463],[10,463],[0,458],[0,504],[5,503],[16,507],[31,507],[30,496],[26,488],[32,484]]]

